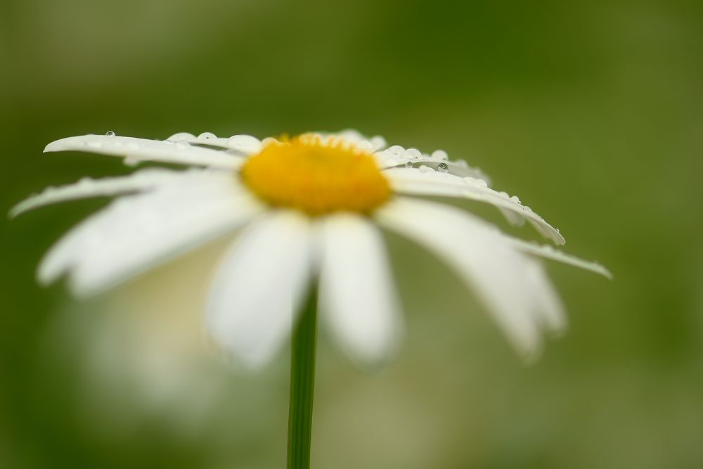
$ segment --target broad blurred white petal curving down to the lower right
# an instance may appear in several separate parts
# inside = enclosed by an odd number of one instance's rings
[[[399,198],[376,212],[389,229],[415,240],[475,286],[496,321],[521,354],[539,351],[541,313],[529,281],[526,257],[493,226],[463,210],[423,200]]]

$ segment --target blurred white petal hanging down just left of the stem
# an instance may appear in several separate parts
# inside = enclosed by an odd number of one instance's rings
[[[224,258],[207,305],[209,333],[250,366],[263,364],[289,335],[310,271],[307,217],[264,217]]]

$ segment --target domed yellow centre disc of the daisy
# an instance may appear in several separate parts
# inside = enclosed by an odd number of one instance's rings
[[[240,171],[244,184],[266,203],[317,216],[368,213],[391,196],[369,150],[335,137],[302,134],[266,142]]]

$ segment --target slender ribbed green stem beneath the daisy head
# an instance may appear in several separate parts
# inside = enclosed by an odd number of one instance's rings
[[[317,292],[313,288],[292,338],[290,407],[288,409],[288,469],[309,469],[310,467],[316,333]]]

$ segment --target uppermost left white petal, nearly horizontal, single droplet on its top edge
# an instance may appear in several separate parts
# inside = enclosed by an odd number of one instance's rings
[[[232,153],[212,148],[192,146],[185,142],[136,139],[135,137],[82,135],[67,137],[49,143],[45,152],[87,151],[125,158],[136,164],[142,161],[159,161],[181,165],[210,166],[223,169],[239,167],[244,159]]]

